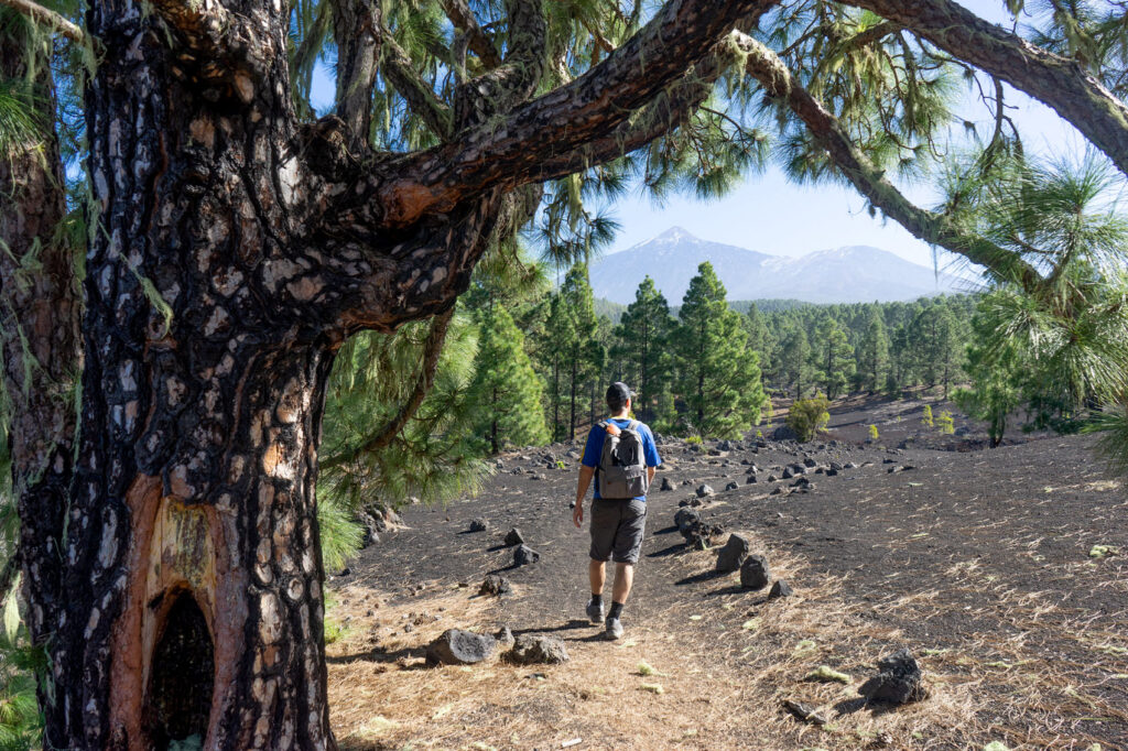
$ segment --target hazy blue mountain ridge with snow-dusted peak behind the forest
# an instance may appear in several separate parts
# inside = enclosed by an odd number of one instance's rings
[[[591,286],[596,297],[628,304],[650,275],[667,301],[678,306],[705,260],[713,264],[729,300],[892,302],[968,291],[967,280],[936,274],[880,248],[845,246],[793,258],[702,240],[680,227],[600,258],[590,270]]]

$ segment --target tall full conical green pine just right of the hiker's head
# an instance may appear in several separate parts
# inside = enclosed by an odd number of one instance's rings
[[[704,435],[739,438],[759,422],[766,396],[741,316],[707,262],[689,282],[679,318],[672,350],[684,418]]]

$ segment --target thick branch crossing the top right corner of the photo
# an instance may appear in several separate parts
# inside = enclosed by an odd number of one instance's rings
[[[845,0],[1050,106],[1128,175],[1128,106],[1079,63],[1031,44],[952,0]]]

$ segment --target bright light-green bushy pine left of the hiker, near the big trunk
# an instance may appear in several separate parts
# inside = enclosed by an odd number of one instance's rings
[[[478,351],[467,394],[475,440],[490,453],[545,443],[544,385],[525,351],[525,335],[501,304],[477,318]]]

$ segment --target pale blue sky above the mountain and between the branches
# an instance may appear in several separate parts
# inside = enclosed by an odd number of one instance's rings
[[[957,1],[982,18],[1011,25],[1004,0]],[[332,72],[324,65],[315,74],[312,95],[319,112],[333,106]],[[1010,87],[1006,100],[1014,107],[1011,115],[1029,152],[1064,156],[1084,151],[1084,138],[1045,105]],[[990,113],[970,94],[959,113],[980,123],[980,132],[989,132]],[[934,196],[926,187],[901,187],[917,203],[925,206],[933,203]],[[870,217],[865,201],[853,189],[834,185],[797,186],[775,166],[749,176],[721,200],[702,202],[675,195],[659,205],[634,189],[610,209],[610,214],[619,222],[620,231],[608,253],[625,250],[678,226],[706,240],[773,255],[800,256],[847,245],[872,245],[922,265],[933,264],[927,245],[896,222]],[[937,262],[944,268],[958,259],[941,251]]]

